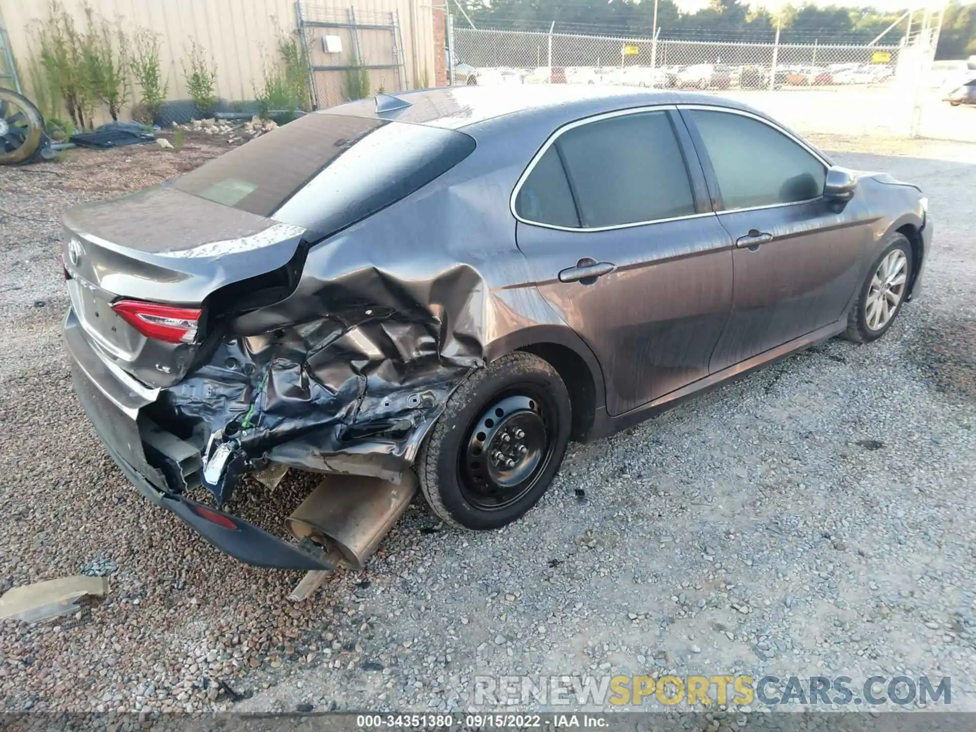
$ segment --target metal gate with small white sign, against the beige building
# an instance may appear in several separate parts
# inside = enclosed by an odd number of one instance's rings
[[[407,89],[395,11],[381,13],[296,3],[316,109]]]

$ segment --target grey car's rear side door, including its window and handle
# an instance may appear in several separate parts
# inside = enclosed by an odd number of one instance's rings
[[[513,195],[539,290],[590,346],[619,415],[708,376],[732,302],[732,241],[671,108],[579,120]]]

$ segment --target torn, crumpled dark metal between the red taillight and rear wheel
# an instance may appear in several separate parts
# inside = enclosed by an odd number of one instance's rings
[[[219,505],[255,461],[398,482],[480,358],[458,346],[445,355],[443,323],[416,303],[397,305],[348,307],[261,336],[225,334],[151,414],[206,446],[202,482]]]

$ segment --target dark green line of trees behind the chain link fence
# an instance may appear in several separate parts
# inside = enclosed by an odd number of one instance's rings
[[[459,0],[477,27],[510,30],[617,34],[649,37],[652,0]],[[682,13],[673,0],[658,1],[660,38],[683,40],[772,41],[777,22],[783,43],[869,43],[905,11],[872,7],[786,5],[778,14],[736,0],[712,0],[695,13]],[[918,27],[921,12],[913,14]],[[466,22],[464,18],[457,22]],[[909,19],[891,28],[881,44],[896,44],[908,30]],[[936,59],[965,59],[976,54],[976,5],[952,0],[946,8]]]

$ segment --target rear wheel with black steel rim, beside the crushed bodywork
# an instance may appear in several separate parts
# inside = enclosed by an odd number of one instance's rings
[[[569,392],[531,353],[509,353],[448,399],[417,458],[427,504],[445,522],[496,529],[549,488],[566,453]]]

